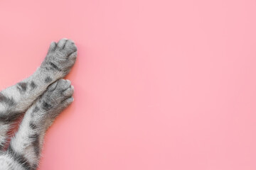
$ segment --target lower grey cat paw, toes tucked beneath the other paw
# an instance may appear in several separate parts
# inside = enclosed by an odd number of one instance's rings
[[[69,80],[59,79],[55,81],[55,83],[48,86],[48,89],[40,98],[41,110],[50,119],[55,119],[61,111],[74,101],[73,93],[74,87],[71,86]]]

